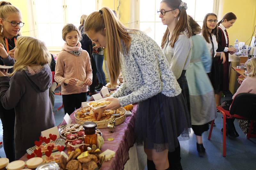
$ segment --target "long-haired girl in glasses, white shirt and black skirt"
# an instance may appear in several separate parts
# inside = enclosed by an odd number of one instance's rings
[[[217,15],[214,13],[208,13],[204,17],[202,35],[206,41],[207,48],[212,57],[212,69],[211,73],[208,74],[211,79],[212,86],[215,92],[215,103],[216,106],[220,105],[221,97],[221,84],[223,80],[223,64],[226,61],[225,53],[217,53],[218,49],[218,29],[217,29]]]

